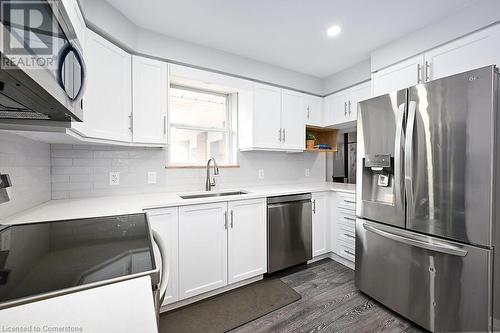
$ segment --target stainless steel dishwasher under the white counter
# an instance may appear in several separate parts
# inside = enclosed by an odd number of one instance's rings
[[[311,258],[311,193],[267,198],[267,272]]]

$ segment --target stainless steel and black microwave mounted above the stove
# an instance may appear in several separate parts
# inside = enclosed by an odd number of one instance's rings
[[[0,122],[83,121],[85,60],[62,2],[0,6]]]

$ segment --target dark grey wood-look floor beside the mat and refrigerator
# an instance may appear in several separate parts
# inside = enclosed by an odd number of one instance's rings
[[[302,299],[232,333],[425,332],[360,293],[354,271],[325,259],[281,277]]]

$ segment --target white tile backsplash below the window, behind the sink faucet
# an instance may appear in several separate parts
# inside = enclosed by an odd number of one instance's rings
[[[205,190],[205,169],[165,169],[165,154],[160,148],[51,145],[52,198]],[[238,164],[220,169],[216,189],[325,180],[325,154],[239,152]],[[109,185],[112,171],[120,172],[119,186]],[[148,171],[157,172],[157,184],[147,184]]]

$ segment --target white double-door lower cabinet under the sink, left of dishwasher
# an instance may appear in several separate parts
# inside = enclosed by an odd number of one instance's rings
[[[179,208],[179,299],[262,275],[265,199]]]

